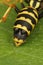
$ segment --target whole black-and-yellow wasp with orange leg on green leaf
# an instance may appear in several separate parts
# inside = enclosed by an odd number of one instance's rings
[[[13,26],[14,43],[20,46],[25,42],[31,31],[35,28],[39,19],[43,17],[43,1],[42,0],[16,0],[15,3],[20,2],[22,9],[20,10],[16,4],[8,5],[8,9],[0,22],[5,21],[8,13],[13,7],[17,13],[17,18]],[[25,7],[26,2],[28,6]]]

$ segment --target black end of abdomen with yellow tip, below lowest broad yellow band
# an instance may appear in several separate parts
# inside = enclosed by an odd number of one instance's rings
[[[16,46],[20,46],[24,43],[25,39],[27,38],[27,32],[20,28],[14,28],[14,43]]]

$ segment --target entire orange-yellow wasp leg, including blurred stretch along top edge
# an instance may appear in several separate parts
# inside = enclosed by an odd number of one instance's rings
[[[21,2],[23,2],[23,0],[16,0],[14,4],[8,4],[8,3],[4,2],[4,4],[7,5],[7,6],[9,6],[9,7],[8,7],[8,9],[6,10],[6,12],[4,13],[3,17],[0,19],[0,23],[6,21],[6,18],[7,18],[7,16],[8,16],[8,13],[10,12],[11,8],[12,8],[12,7],[15,8],[15,6],[16,6],[16,4],[17,4],[18,2],[21,3]]]

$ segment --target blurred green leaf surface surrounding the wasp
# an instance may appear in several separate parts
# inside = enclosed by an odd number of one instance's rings
[[[0,18],[8,7],[0,4]],[[14,9],[5,23],[0,23],[0,65],[43,65],[43,19],[20,47],[13,44]]]

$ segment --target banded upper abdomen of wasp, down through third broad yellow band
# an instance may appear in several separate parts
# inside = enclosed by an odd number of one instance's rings
[[[32,29],[34,29],[37,22],[38,22],[38,13],[36,9],[27,7],[23,8],[18,13],[14,27],[25,30],[29,35]]]

